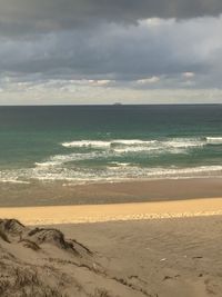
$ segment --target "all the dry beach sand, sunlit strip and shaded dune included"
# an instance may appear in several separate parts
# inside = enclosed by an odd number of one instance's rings
[[[0,217],[2,297],[222,296],[222,198],[12,207]]]

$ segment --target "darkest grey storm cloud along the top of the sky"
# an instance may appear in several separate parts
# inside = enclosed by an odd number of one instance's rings
[[[0,0],[0,32],[58,31],[99,22],[218,16],[221,0]]]

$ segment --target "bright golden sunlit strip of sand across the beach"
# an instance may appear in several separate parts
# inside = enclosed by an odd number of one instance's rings
[[[222,198],[141,204],[0,208],[1,218],[53,225],[222,215]]]

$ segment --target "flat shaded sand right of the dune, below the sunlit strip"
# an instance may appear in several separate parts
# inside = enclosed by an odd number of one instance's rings
[[[144,296],[222,296],[222,216],[58,228],[97,251],[108,275]]]

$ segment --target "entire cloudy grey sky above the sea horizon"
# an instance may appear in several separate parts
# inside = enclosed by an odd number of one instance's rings
[[[222,103],[221,0],[0,0],[0,105]]]

